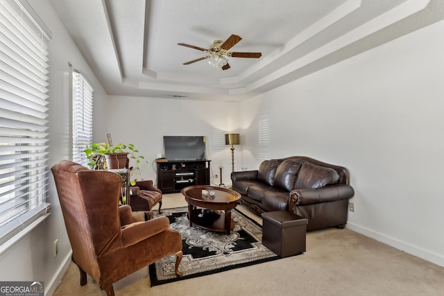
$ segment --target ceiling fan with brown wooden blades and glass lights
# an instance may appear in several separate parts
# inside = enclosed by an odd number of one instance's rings
[[[211,64],[214,67],[221,67],[222,70],[230,69],[230,64],[228,64],[228,58],[260,58],[262,53],[239,53],[236,51],[228,51],[228,49],[231,49],[234,45],[237,44],[237,42],[241,41],[242,38],[238,35],[231,35],[228,37],[225,42],[222,42],[221,40],[214,40],[213,44],[210,46],[209,49],[203,49],[199,46],[189,45],[185,43],[178,43],[178,45],[186,46],[191,49],[197,49],[198,51],[203,51],[204,53],[210,53],[210,55],[206,55],[205,57],[198,58],[196,60],[191,60],[189,62],[184,62],[183,64],[192,64],[194,62],[198,62],[200,60],[208,60],[208,63]]]

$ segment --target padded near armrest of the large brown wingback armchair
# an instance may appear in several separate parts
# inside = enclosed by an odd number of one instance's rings
[[[126,225],[121,229],[123,247],[135,245],[167,229],[169,229],[169,220],[165,216]]]

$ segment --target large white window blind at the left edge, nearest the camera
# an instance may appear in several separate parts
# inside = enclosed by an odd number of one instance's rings
[[[49,31],[0,1],[0,244],[46,213]]]

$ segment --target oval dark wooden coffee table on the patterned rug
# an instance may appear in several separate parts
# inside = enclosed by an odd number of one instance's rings
[[[204,195],[203,190],[214,191],[214,195]],[[239,193],[231,189],[207,185],[188,186],[180,192],[188,203],[189,226],[195,224],[212,232],[230,234],[230,230],[234,227],[231,210],[241,199]]]

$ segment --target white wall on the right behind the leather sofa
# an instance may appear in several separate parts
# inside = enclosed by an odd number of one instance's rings
[[[348,227],[444,266],[443,33],[441,21],[242,103],[255,110],[243,112],[243,165],[263,153],[347,167]]]

